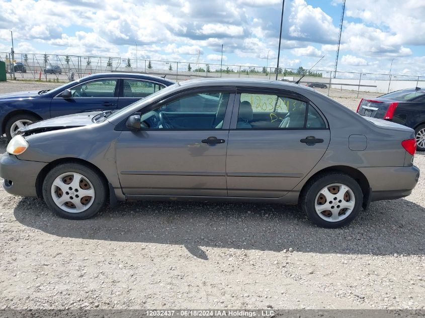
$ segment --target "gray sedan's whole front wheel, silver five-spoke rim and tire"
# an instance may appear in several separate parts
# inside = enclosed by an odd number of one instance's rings
[[[78,163],[54,167],[43,182],[46,204],[60,217],[71,220],[96,215],[107,200],[107,187],[96,170]]]

